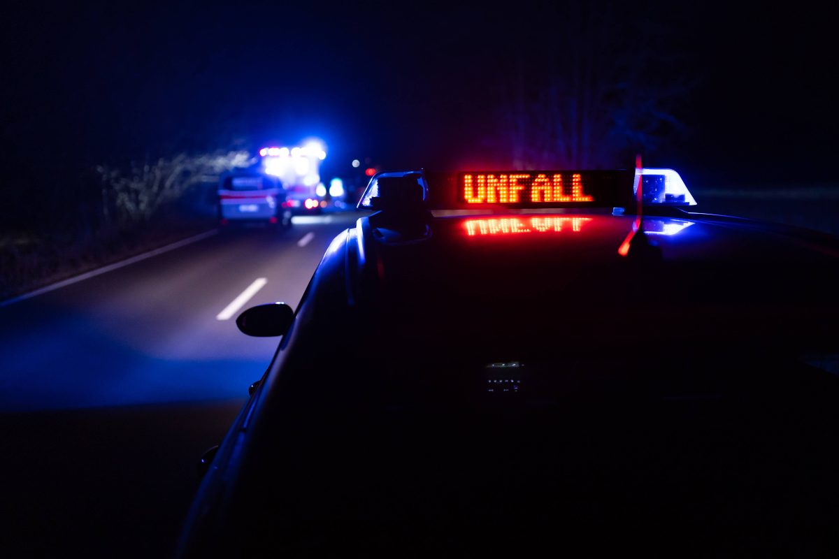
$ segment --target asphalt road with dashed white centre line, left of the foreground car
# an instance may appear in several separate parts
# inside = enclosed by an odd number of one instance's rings
[[[0,307],[0,556],[170,556],[197,459],[279,341],[237,313],[296,307],[357,217],[221,232]]]

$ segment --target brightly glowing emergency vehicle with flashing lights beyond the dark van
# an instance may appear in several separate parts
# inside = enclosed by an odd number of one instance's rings
[[[284,184],[294,214],[316,213],[342,203],[345,193],[341,180],[332,179],[327,188],[320,178],[320,162],[326,159],[326,149],[320,142],[312,140],[295,148],[262,148],[259,156],[263,173]]]

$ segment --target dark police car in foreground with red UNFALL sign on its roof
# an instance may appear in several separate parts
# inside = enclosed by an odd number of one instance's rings
[[[182,557],[835,555],[839,241],[670,169],[379,173]],[[330,340],[329,350],[324,340]]]

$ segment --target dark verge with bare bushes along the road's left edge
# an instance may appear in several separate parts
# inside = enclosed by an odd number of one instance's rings
[[[242,151],[181,153],[100,165],[72,188],[22,183],[0,215],[0,302],[215,227],[219,175],[250,163]]]

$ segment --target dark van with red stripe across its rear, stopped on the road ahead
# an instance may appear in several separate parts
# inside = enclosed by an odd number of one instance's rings
[[[218,217],[221,225],[291,226],[291,209],[283,184],[276,177],[258,171],[239,170],[221,175]]]

